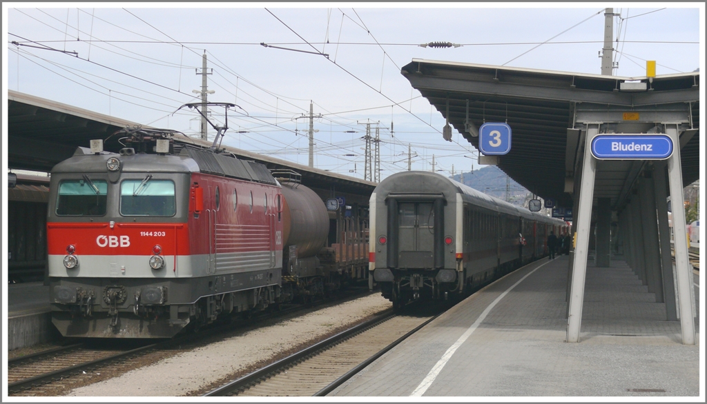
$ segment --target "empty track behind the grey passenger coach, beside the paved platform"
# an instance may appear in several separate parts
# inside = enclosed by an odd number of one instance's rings
[[[325,396],[436,316],[387,311],[204,396]]]

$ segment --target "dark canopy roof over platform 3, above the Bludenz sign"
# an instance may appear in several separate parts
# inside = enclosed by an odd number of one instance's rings
[[[573,206],[564,185],[578,153],[572,135],[579,131],[571,130],[582,129],[575,122],[578,109],[595,105],[632,112],[655,105],[686,105],[691,128],[699,129],[697,71],[657,76],[648,83],[647,77],[413,59],[401,73],[477,149],[479,138],[469,133],[474,131],[469,124],[475,129],[484,122],[510,125],[512,147],[500,156],[498,167],[534,194],[554,198],[559,206]],[[650,90],[624,90],[621,83],[626,82],[647,83]],[[695,131],[690,136],[682,148],[685,185],[699,179],[700,136]]]

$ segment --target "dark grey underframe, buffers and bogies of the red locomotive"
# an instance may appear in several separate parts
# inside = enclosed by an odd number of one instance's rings
[[[171,338],[191,321],[291,299],[281,271],[199,278],[50,278],[52,323],[66,337]]]

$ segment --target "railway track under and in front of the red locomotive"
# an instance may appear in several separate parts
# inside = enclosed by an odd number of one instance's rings
[[[30,355],[8,360],[8,395],[10,396],[52,396],[57,385],[69,385],[69,378],[100,376],[101,369],[106,372],[120,373],[122,369],[138,367],[145,362],[145,357],[163,357],[171,355],[176,346],[198,343],[199,340],[235,331],[240,326],[252,326],[262,321],[296,314],[326,304],[337,304],[348,299],[361,297],[368,293],[368,288],[349,290],[337,299],[321,300],[309,304],[298,304],[268,313],[253,316],[243,321],[223,323],[204,328],[198,333],[189,333],[171,340],[158,343],[144,343],[134,340],[99,340],[56,347]],[[134,363],[131,363],[134,362]],[[110,369],[110,370],[109,370]],[[88,375],[88,376],[87,376]]]

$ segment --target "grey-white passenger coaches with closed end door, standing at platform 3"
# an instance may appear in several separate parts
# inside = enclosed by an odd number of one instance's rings
[[[566,222],[433,172],[399,172],[370,197],[369,284],[395,307],[447,299],[547,254]]]

